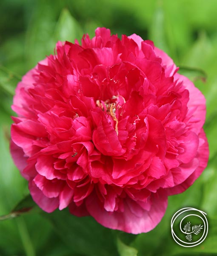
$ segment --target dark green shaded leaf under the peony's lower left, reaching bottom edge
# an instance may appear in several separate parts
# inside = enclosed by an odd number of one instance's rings
[[[101,226],[92,217],[76,217],[68,209],[43,216],[51,221],[60,239],[72,253],[81,255],[117,256],[112,230]]]

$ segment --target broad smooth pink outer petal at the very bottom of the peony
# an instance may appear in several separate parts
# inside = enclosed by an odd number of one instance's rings
[[[135,215],[133,209],[126,203],[124,204],[123,212],[107,212],[101,207],[96,195],[87,199],[86,207],[96,221],[103,226],[128,233],[139,234],[148,232],[157,226],[166,211],[167,197],[163,195],[163,192],[161,195],[153,194],[149,211],[138,205],[140,213],[142,212],[140,216]]]

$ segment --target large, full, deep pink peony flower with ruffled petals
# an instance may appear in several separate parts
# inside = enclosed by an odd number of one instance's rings
[[[58,42],[18,84],[11,154],[46,212],[152,230],[208,161],[205,98],[138,35]]]

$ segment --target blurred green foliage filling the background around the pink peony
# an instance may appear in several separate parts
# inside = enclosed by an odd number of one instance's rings
[[[91,217],[71,216],[67,209],[52,214],[32,211],[0,222],[0,256],[217,255],[216,0],[1,0],[0,215],[9,214],[28,195],[27,182],[9,154],[10,106],[17,82],[53,53],[56,41],[80,40],[83,32],[92,37],[97,26],[153,40],[185,67],[182,73],[207,100],[208,167],[186,192],[169,198],[166,215],[149,233],[134,236],[109,230]],[[209,233],[203,244],[184,248],[173,241],[171,217],[182,207],[208,214]]]

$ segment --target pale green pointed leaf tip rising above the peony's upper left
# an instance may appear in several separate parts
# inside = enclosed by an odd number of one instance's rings
[[[80,40],[83,36],[83,31],[78,22],[71,16],[67,9],[63,9],[60,18],[57,22],[54,32],[54,41],[69,41]]]

